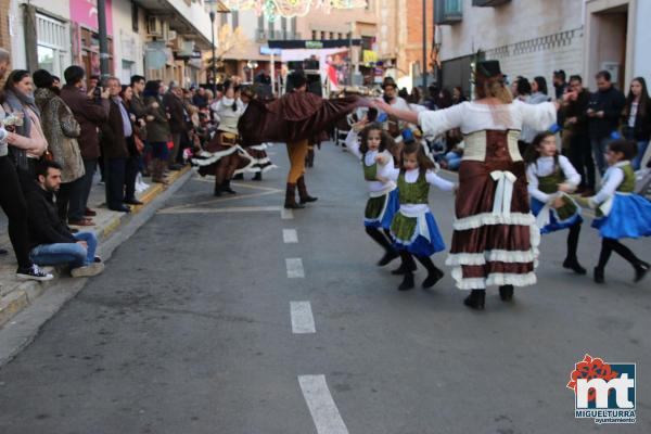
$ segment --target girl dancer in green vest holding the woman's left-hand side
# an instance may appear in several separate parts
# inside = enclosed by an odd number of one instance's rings
[[[445,250],[445,243],[427,205],[430,184],[444,191],[455,190],[455,184],[434,174],[434,163],[418,142],[406,143],[400,159],[403,169],[392,170],[392,179],[398,184],[400,208],[391,225],[391,235],[394,247],[409,268],[398,291],[413,288],[416,264],[411,255],[427,269],[422,286],[431,288],[443,278],[444,272],[436,268],[430,256]]]

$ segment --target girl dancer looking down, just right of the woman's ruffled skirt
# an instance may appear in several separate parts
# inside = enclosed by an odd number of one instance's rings
[[[578,275],[585,275],[576,256],[580,233],[580,207],[567,195],[574,192],[580,182],[580,175],[570,161],[559,155],[556,137],[545,131],[534,138],[524,154],[528,192],[532,196],[532,213],[540,233],[550,233],[570,229],[567,234],[567,255],[563,267]]]

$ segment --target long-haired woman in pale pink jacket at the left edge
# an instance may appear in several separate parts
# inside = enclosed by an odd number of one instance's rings
[[[18,175],[26,176],[25,180],[34,178],[36,164],[48,149],[48,142],[40,125],[40,111],[34,102],[29,72],[15,69],[7,77],[3,106],[7,114],[17,120],[14,123],[15,132],[10,132],[7,138],[11,144],[10,155]]]

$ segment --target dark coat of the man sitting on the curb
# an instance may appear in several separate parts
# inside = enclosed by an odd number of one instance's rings
[[[41,244],[76,243],[68,227],[59,218],[54,195],[34,182],[25,189],[29,248]]]

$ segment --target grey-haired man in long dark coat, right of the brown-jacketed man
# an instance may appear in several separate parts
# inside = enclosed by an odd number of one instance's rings
[[[106,162],[105,170],[108,174],[106,181],[106,201],[108,209],[130,213],[131,208],[125,205],[125,168],[129,152],[126,138],[133,135],[129,113],[119,98],[122,86],[119,79],[111,77],[106,80],[111,94],[108,122],[102,125],[102,152]]]

